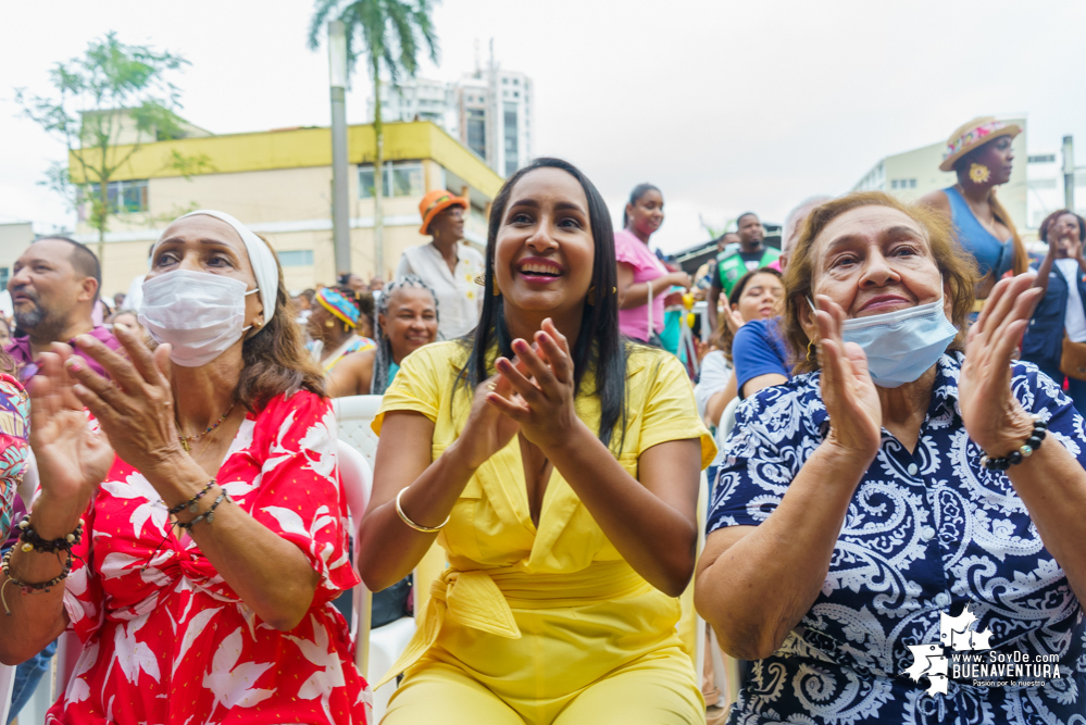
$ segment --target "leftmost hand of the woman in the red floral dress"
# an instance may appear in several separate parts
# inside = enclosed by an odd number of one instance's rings
[[[109,439],[91,430],[72,391],[74,380],[64,365],[71,354],[68,346],[53,343],[53,352],[41,353],[30,380],[30,448],[41,482],[34,518],[45,538],[74,528],[73,520],[86,510],[113,464]],[[54,527],[59,532],[50,530]]]

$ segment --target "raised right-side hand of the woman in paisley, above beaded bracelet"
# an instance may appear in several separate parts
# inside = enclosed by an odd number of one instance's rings
[[[988,455],[1018,449],[1033,430],[1011,392],[1011,360],[1044,290],[1022,274],[996,284],[965,338],[958,403],[970,438]]]

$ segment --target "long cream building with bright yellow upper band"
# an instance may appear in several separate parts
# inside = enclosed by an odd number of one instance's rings
[[[374,259],[376,138],[372,125],[348,128],[351,272],[386,279],[419,234],[419,201],[445,188],[471,200],[467,240],[486,243],[490,201],[502,178],[440,127],[428,122],[385,125],[384,264]],[[111,153],[123,159],[130,147]],[[85,158],[92,152],[84,151]],[[188,175],[177,159],[188,161]],[[88,159],[89,160],[89,159]],[[73,182],[78,164],[72,160]],[[328,128],[289,128],[252,134],[199,136],[143,143],[113,176],[110,196],[121,213],[105,233],[102,292],[128,289],[147,271],[148,251],[170,221],[194,209],[233,214],[266,237],[283,263],[288,289],[333,284],[337,273],[332,238],[332,134]],[[98,251],[98,232],[80,215],[76,239]]]

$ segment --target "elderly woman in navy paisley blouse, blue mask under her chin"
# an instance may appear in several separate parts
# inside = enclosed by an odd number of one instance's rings
[[[976,272],[941,216],[812,213],[785,279],[802,374],[739,407],[697,574],[754,661],[731,722],[1083,722],[1086,435],[1013,360],[1032,282],[966,335]]]

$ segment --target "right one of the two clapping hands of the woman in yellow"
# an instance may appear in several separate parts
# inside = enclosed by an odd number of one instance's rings
[[[495,366],[516,396],[505,398],[491,392],[487,402],[516,421],[524,437],[545,452],[569,442],[583,424],[574,405],[573,359],[567,340],[547,318],[536,333],[535,346],[516,339],[513,351],[530,378],[505,358],[499,358]]]

